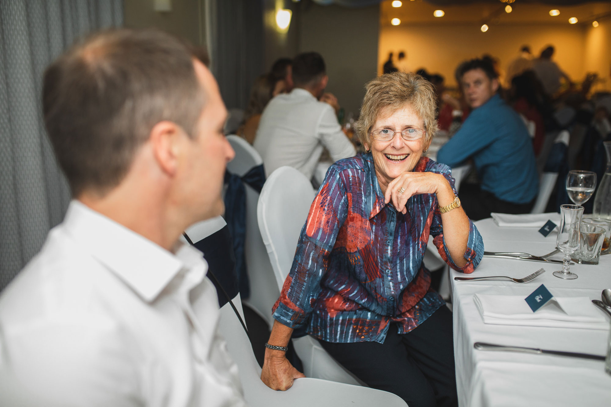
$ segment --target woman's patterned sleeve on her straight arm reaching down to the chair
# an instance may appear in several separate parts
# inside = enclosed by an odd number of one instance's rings
[[[346,220],[348,201],[341,174],[331,167],[301,229],[291,271],[284,281],[273,317],[289,328],[301,328],[312,313],[327,271],[327,259]]]

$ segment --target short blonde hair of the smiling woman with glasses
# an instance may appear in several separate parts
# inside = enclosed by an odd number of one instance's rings
[[[437,131],[436,96],[431,82],[415,73],[393,72],[378,76],[365,86],[367,92],[360,107],[356,131],[362,144],[371,145],[369,135],[382,111],[396,111],[410,106],[424,122],[425,142]]]

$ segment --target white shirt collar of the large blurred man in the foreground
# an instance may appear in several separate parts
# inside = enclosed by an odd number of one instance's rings
[[[152,302],[183,269],[202,281],[202,253],[179,244],[176,255],[142,235],[73,200],[64,219],[67,233],[145,301]]]

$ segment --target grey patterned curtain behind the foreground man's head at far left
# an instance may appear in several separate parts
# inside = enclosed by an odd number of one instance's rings
[[[42,73],[81,35],[122,24],[122,0],[0,0],[0,290],[70,201],[42,121]]]

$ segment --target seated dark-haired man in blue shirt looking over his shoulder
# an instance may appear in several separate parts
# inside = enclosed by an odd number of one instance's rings
[[[471,158],[481,185],[461,186],[460,199],[470,219],[491,212],[530,213],[539,180],[532,142],[521,117],[497,94],[499,79],[492,64],[472,59],[456,69],[473,111],[437,161],[456,167]]]

